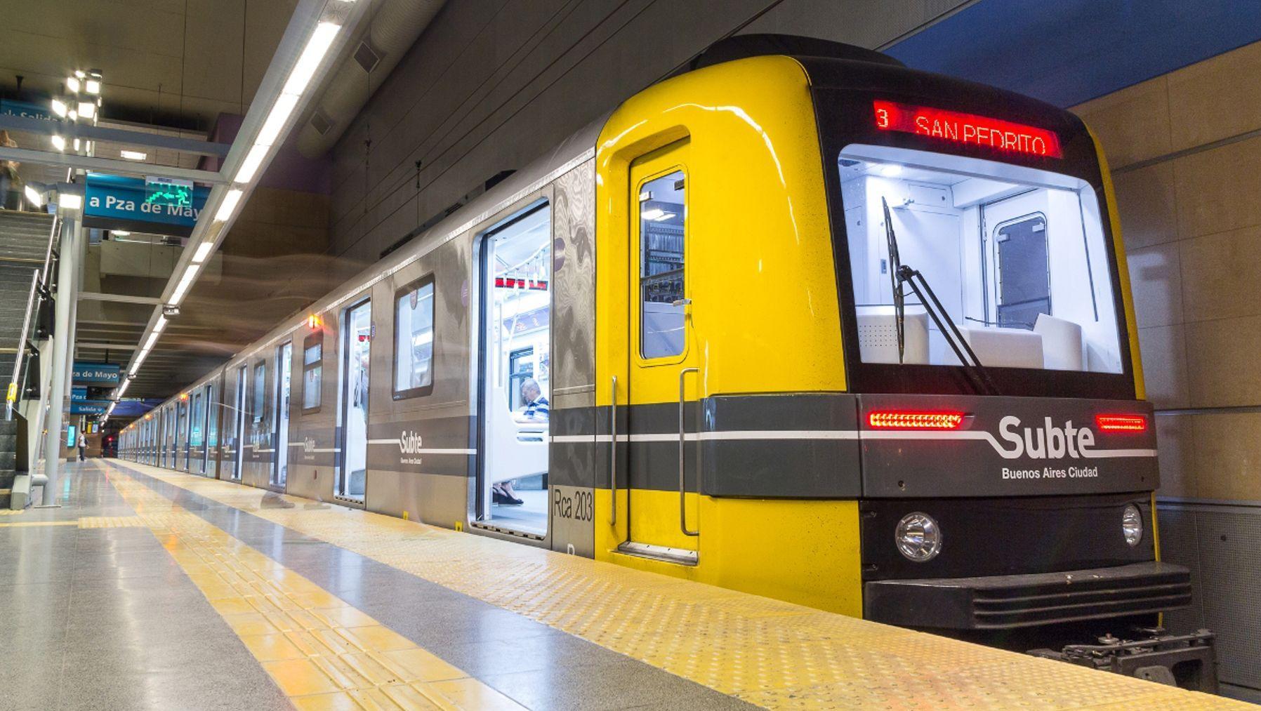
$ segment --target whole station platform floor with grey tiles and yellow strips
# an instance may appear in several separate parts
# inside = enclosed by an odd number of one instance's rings
[[[0,708],[1252,708],[153,466],[67,473],[61,508],[0,516]]]

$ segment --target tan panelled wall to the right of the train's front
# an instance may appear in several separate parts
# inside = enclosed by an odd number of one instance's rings
[[[1261,688],[1261,43],[1074,108],[1116,182],[1165,558],[1197,572],[1175,628],[1219,633],[1223,682]]]

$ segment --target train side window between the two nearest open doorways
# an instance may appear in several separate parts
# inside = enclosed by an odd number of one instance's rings
[[[434,391],[434,275],[395,292],[393,398]]]

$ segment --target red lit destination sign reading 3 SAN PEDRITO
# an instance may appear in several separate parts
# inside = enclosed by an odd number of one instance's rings
[[[874,101],[873,108],[875,126],[883,131],[902,131],[957,144],[990,146],[1008,153],[1064,156],[1059,149],[1059,136],[1045,129],[893,101]]]

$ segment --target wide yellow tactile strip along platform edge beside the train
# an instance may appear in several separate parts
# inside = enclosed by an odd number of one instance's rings
[[[260,508],[259,489],[126,466],[764,707],[1251,708],[298,497]]]

